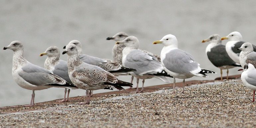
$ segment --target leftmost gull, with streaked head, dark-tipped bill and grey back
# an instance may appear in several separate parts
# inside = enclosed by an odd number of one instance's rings
[[[50,87],[76,88],[73,84],[67,83],[63,78],[53,72],[28,62],[24,58],[23,44],[20,41],[13,41],[4,47],[4,50],[11,49],[13,53],[12,76],[14,81],[22,88],[32,90],[32,98],[29,105],[34,106],[35,90],[43,90]]]

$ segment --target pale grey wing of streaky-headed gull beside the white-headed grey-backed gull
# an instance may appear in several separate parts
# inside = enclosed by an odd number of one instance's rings
[[[137,75],[161,72],[164,69],[159,61],[141,50],[130,51],[123,62],[126,67],[136,69],[134,73]]]

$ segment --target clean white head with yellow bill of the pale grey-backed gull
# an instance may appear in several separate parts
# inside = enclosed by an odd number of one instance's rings
[[[160,41],[155,41],[153,44],[163,44],[164,46],[174,46],[178,48],[178,40],[172,34],[164,36]]]

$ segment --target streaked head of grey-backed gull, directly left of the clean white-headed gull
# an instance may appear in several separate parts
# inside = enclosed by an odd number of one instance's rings
[[[123,41],[116,42],[116,44],[124,44],[126,47],[138,49],[140,42],[137,37],[129,36],[129,37],[126,37]]]

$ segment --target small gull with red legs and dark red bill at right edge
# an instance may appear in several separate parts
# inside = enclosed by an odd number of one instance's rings
[[[239,69],[239,70],[244,70],[243,73],[241,74],[241,80],[247,88],[253,90],[253,100],[254,102],[254,96],[255,96],[255,90],[256,90],[256,69],[252,64],[245,64],[244,69]]]

